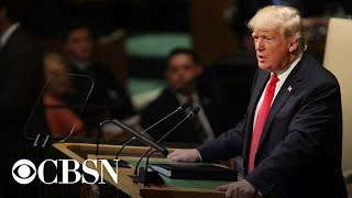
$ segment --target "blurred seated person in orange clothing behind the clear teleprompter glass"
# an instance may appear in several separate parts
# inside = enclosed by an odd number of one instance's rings
[[[66,73],[66,74],[61,74]],[[44,57],[44,77],[47,80],[43,94],[45,117],[52,138],[84,135],[85,124],[66,102],[73,95],[72,76],[65,58],[56,53]]]

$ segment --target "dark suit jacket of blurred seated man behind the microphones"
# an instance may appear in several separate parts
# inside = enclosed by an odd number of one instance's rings
[[[217,97],[213,91],[210,91],[210,87],[202,85],[204,88],[198,88],[198,95],[200,103],[205,110],[205,113],[210,122],[210,125],[215,132],[215,136],[218,136],[227,128],[227,112],[226,108],[220,102],[221,97]],[[153,102],[151,102],[141,113],[142,127],[144,129],[157,122],[163,117],[167,116],[172,111],[176,110],[180,106],[175,94],[166,88],[161,96]],[[150,131],[150,135],[158,140],[168,130],[175,127],[186,116],[185,112],[179,111],[172,118],[158,124],[156,128]],[[194,127],[194,120],[188,119],[182,125],[179,125],[174,132],[172,132],[164,141],[166,142],[183,142],[183,143],[200,143],[198,133]]]

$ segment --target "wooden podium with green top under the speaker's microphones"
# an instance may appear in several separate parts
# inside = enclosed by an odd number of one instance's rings
[[[76,160],[82,164],[86,160],[96,158],[114,158],[117,151],[121,145],[99,145],[99,155],[96,156],[96,144],[89,143],[55,143],[53,144],[63,154],[67,155],[69,158]],[[133,183],[129,175],[133,175],[134,164],[139,161],[140,156],[147,151],[146,146],[125,146],[121,152],[120,160],[129,162],[131,168],[118,168],[118,183],[116,184],[110,177],[108,172],[103,169],[105,180],[116,187],[117,189],[123,191],[125,195],[131,197],[193,197],[193,198],[223,198],[224,193],[217,191],[217,186],[229,184],[229,182],[222,180],[186,180],[186,179],[169,179],[164,178],[164,185],[151,185],[150,187],[144,187],[143,184]],[[170,152],[175,148],[168,148]],[[143,160],[144,161],[144,160]],[[142,161],[140,167],[145,166]],[[163,156],[155,154],[150,158],[150,163],[156,162],[167,162],[168,160]],[[89,163],[88,163],[89,166]],[[91,168],[95,168],[94,166]],[[99,163],[97,164],[97,169],[100,168]],[[107,172],[107,173],[105,173]],[[239,180],[242,178],[239,177]],[[257,196],[260,197],[260,196]]]

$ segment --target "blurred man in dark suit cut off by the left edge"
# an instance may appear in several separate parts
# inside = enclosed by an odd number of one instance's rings
[[[12,1],[0,1],[0,106],[1,121],[20,136],[40,91],[43,88],[42,53],[34,38],[18,21]],[[6,122],[3,119],[10,122]],[[18,124],[15,124],[15,122]],[[3,128],[3,125],[2,125]]]

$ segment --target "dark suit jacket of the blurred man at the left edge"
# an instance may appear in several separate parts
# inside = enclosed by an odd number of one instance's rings
[[[19,26],[0,51],[0,120],[8,136],[19,138],[43,88],[42,53]]]

